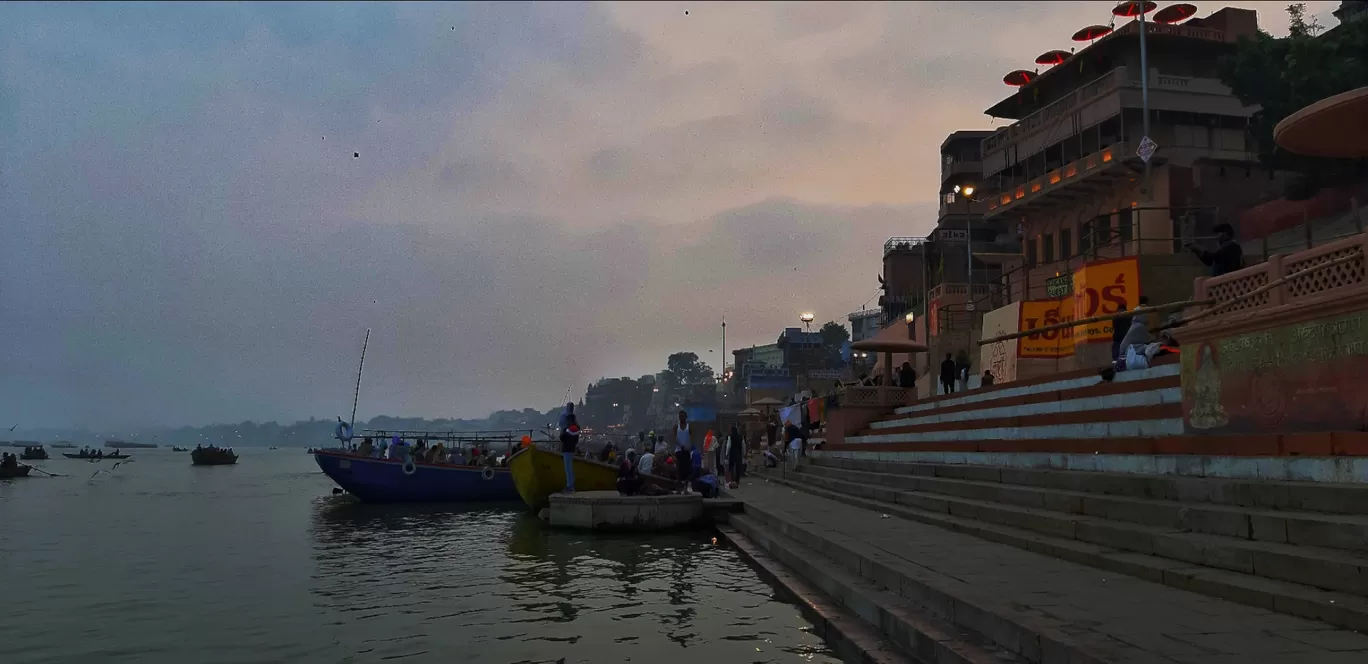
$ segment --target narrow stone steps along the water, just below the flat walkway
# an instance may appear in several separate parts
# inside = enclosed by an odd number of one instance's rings
[[[729,522],[729,526],[720,530],[752,560],[762,561],[765,556],[773,559],[856,617],[863,630],[851,627],[845,630],[854,633],[855,639],[866,643],[880,639],[893,646],[892,649],[865,646],[862,650],[882,653],[889,660],[906,654],[925,664],[1026,661],[978,634],[929,615],[897,593],[860,578],[858,568],[854,572],[847,571],[825,554],[780,534],[777,528],[762,524],[754,515],[732,516]],[[895,649],[896,652],[889,652]]]

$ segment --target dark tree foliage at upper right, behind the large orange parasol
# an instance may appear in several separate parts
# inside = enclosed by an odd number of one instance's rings
[[[1260,31],[1241,38],[1235,52],[1222,59],[1220,78],[1242,103],[1260,107],[1250,129],[1265,166],[1338,179],[1360,164],[1279,151],[1274,127],[1309,104],[1368,85],[1368,21],[1349,21],[1320,34],[1304,3],[1287,7],[1287,37]]]

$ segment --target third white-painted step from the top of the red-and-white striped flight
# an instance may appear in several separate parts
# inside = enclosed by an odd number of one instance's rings
[[[1179,435],[1183,433],[1181,403],[1131,408],[1051,412],[982,418],[969,422],[897,426],[866,430],[847,438],[852,444],[938,441],[990,441],[1036,438],[1118,438]]]

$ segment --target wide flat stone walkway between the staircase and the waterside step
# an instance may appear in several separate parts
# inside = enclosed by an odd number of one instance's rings
[[[973,537],[971,530],[955,533],[944,524],[904,519],[902,513],[910,508],[888,509],[821,489],[754,482],[740,494],[747,500],[746,519],[1031,663],[1357,664],[1368,656],[1363,634],[1274,612],[1276,587],[1272,593],[1234,587],[1256,606],[1211,597],[1224,587],[1224,576],[1239,575],[1167,564],[1156,568],[1155,576],[1167,572],[1171,585],[1153,583],[1131,576],[1134,570],[1063,560],[1048,546],[1040,552],[1004,546]],[[1049,539],[1021,537],[1042,544]],[[1082,557],[1116,556],[1108,560],[1112,567],[1145,564],[1127,559],[1167,563],[1079,542],[1067,545]],[[1120,571],[1127,574],[1116,574]],[[1171,587],[1183,580],[1194,589],[1202,586],[1207,596]],[[1349,604],[1363,598],[1346,597]]]

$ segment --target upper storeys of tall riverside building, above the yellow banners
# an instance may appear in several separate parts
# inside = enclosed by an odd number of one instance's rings
[[[1005,220],[1023,252],[1005,266],[1012,300],[1044,298],[1048,282],[1083,263],[1145,256],[1149,279],[1192,286],[1200,267],[1182,245],[1283,186],[1259,166],[1245,107],[1222,84],[1219,59],[1257,34],[1252,10],[1223,8],[1182,25],[1131,21],[1025,82],[986,111],[1014,119],[982,141],[984,216]],[[1141,77],[1148,78],[1148,168]],[[1148,185],[1148,186],[1146,186]],[[1153,257],[1149,260],[1148,257]],[[1179,274],[1181,272],[1181,274]],[[1142,279],[1146,281],[1146,279]],[[1174,293],[1176,296],[1176,293]]]

